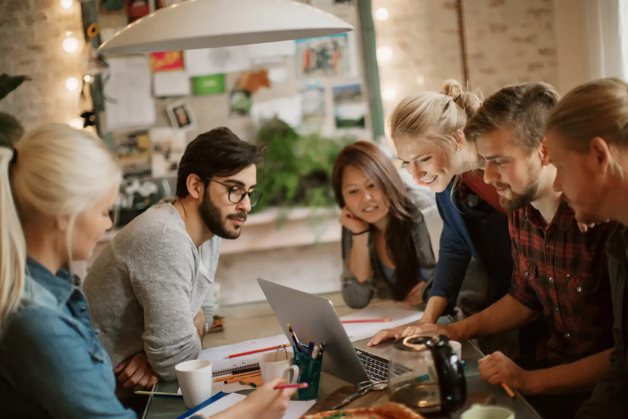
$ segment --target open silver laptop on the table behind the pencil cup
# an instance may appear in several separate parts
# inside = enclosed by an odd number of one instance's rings
[[[356,349],[330,300],[260,278],[257,282],[290,342],[288,323],[301,343],[325,342],[323,371],[352,384],[387,379],[387,351],[366,349],[368,339],[356,342]]]

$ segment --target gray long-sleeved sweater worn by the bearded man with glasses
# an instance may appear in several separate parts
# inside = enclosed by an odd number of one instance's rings
[[[145,351],[153,370],[173,380],[176,364],[196,359],[201,342],[193,318],[214,300],[219,256],[220,237],[197,249],[170,203],[154,205],[116,234],[83,285],[114,367]]]

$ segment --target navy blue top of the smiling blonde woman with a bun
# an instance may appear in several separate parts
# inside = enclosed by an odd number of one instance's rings
[[[452,313],[456,306],[472,257],[484,267],[489,281],[497,286],[500,298],[510,289],[512,276],[508,216],[472,192],[467,203],[458,193],[452,197],[452,188],[453,180],[447,189],[436,193],[443,232],[430,297],[447,298],[443,315]]]

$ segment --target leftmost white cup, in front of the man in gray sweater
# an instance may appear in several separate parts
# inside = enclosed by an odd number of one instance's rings
[[[177,364],[175,370],[183,401],[188,409],[200,405],[212,396],[212,361],[185,361]]]

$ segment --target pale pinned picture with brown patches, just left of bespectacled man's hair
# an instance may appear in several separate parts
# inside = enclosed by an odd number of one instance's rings
[[[185,131],[170,127],[152,128],[148,131],[151,139],[151,173],[153,178],[176,177],[179,162],[185,152]]]

